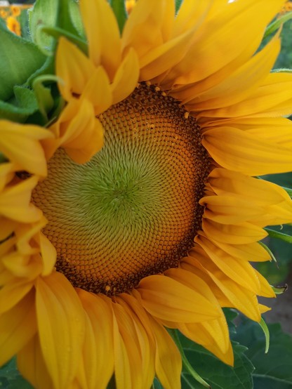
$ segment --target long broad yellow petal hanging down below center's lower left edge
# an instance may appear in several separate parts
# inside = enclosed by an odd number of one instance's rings
[[[73,286],[59,272],[36,284],[39,339],[54,388],[69,388],[84,341],[84,311]]]

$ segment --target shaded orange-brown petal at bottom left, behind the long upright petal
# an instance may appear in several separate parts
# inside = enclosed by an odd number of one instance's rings
[[[53,383],[48,374],[44,357],[39,344],[39,337],[34,336],[20,352],[18,352],[18,370],[34,388],[51,389]]]

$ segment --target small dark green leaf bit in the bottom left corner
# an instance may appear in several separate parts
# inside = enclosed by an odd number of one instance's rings
[[[27,381],[25,381],[18,371],[15,363],[15,358],[4,364],[0,369],[0,388],[5,389],[33,389]]]

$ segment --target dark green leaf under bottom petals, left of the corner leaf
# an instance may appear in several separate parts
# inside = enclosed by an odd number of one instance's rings
[[[245,355],[246,347],[232,342],[234,350],[234,367],[224,364],[211,352],[197,345],[196,343],[180,336],[185,355],[190,364],[203,377],[212,389],[252,389],[253,381],[251,374],[253,364]],[[204,389],[204,386],[194,381],[192,376],[183,369],[182,374],[183,389]]]

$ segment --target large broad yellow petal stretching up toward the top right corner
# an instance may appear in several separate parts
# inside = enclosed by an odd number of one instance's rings
[[[217,4],[215,4],[217,7]],[[213,17],[206,20],[198,30],[198,40],[185,58],[168,74],[174,84],[190,84],[217,72],[247,46],[254,46],[255,37],[261,37],[265,27],[281,8],[278,0],[232,1],[218,6]],[[257,15],[256,23],[246,23]],[[237,39],[230,39],[237,34]],[[251,52],[252,55],[253,52]],[[213,60],[216,58],[216,60]],[[228,73],[226,73],[228,74]]]

